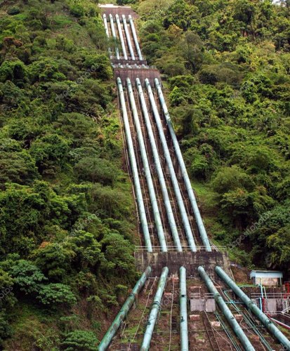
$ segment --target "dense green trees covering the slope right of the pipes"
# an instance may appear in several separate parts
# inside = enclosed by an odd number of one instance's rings
[[[138,13],[213,239],[244,264],[286,269],[289,1],[145,0]]]

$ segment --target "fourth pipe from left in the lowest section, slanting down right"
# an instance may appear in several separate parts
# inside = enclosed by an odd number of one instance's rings
[[[230,308],[228,305],[225,303],[223,298],[220,296],[218,293],[218,290],[216,287],[213,285],[213,282],[211,282],[211,278],[206,274],[206,271],[204,270],[204,267],[199,266],[198,267],[198,272],[199,275],[202,277],[204,282],[206,283],[207,289],[211,293],[213,293],[213,298],[220,307],[220,310],[222,310],[225,318],[227,319],[228,323],[230,326],[232,326],[233,331],[235,331],[236,336],[239,338],[241,341],[242,345],[244,346],[246,351],[255,351],[255,348],[251,344],[250,340],[247,338],[246,334],[242,330],[241,326],[233,316],[232,312],[230,311]]]

